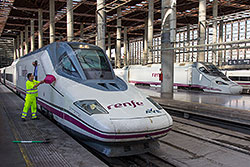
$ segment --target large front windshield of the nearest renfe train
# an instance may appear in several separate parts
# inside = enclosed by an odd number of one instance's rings
[[[74,49],[87,79],[114,79],[110,64],[101,50]]]

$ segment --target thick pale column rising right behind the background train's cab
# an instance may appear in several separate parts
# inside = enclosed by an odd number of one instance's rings
[[[206,39],[206,0],[199,0],[199,39],[198,45],[205,44]],[[205,50],[205,47],[199,48]],[[205,62],[205,52],[198,52],[198,61]]]

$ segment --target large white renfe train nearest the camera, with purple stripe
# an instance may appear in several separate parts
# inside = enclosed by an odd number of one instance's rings
[[[134,86],[116,77],[97,46],[55,42],[2,68],[2,83],[25,95],[27,73],[38,61],[38,107],[107,156],[138,154],[157,146],[173,124],[171,116]]]

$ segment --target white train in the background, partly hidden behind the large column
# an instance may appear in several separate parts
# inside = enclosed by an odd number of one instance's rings
[[[160,86],[161,64],[130,65],[114,70],[129,83]],[[174,87],[196,89],[204,92],[238,94],[242,87],[230,80],[211,63],[175,63]]]

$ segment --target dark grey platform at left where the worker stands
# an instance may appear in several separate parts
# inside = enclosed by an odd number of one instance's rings
[[[58,126],[38,113],[39,120],[20,119],[24,101],[0,83],[0,166],[107,166]],[[12,141],[49,141],[13,143]]]

